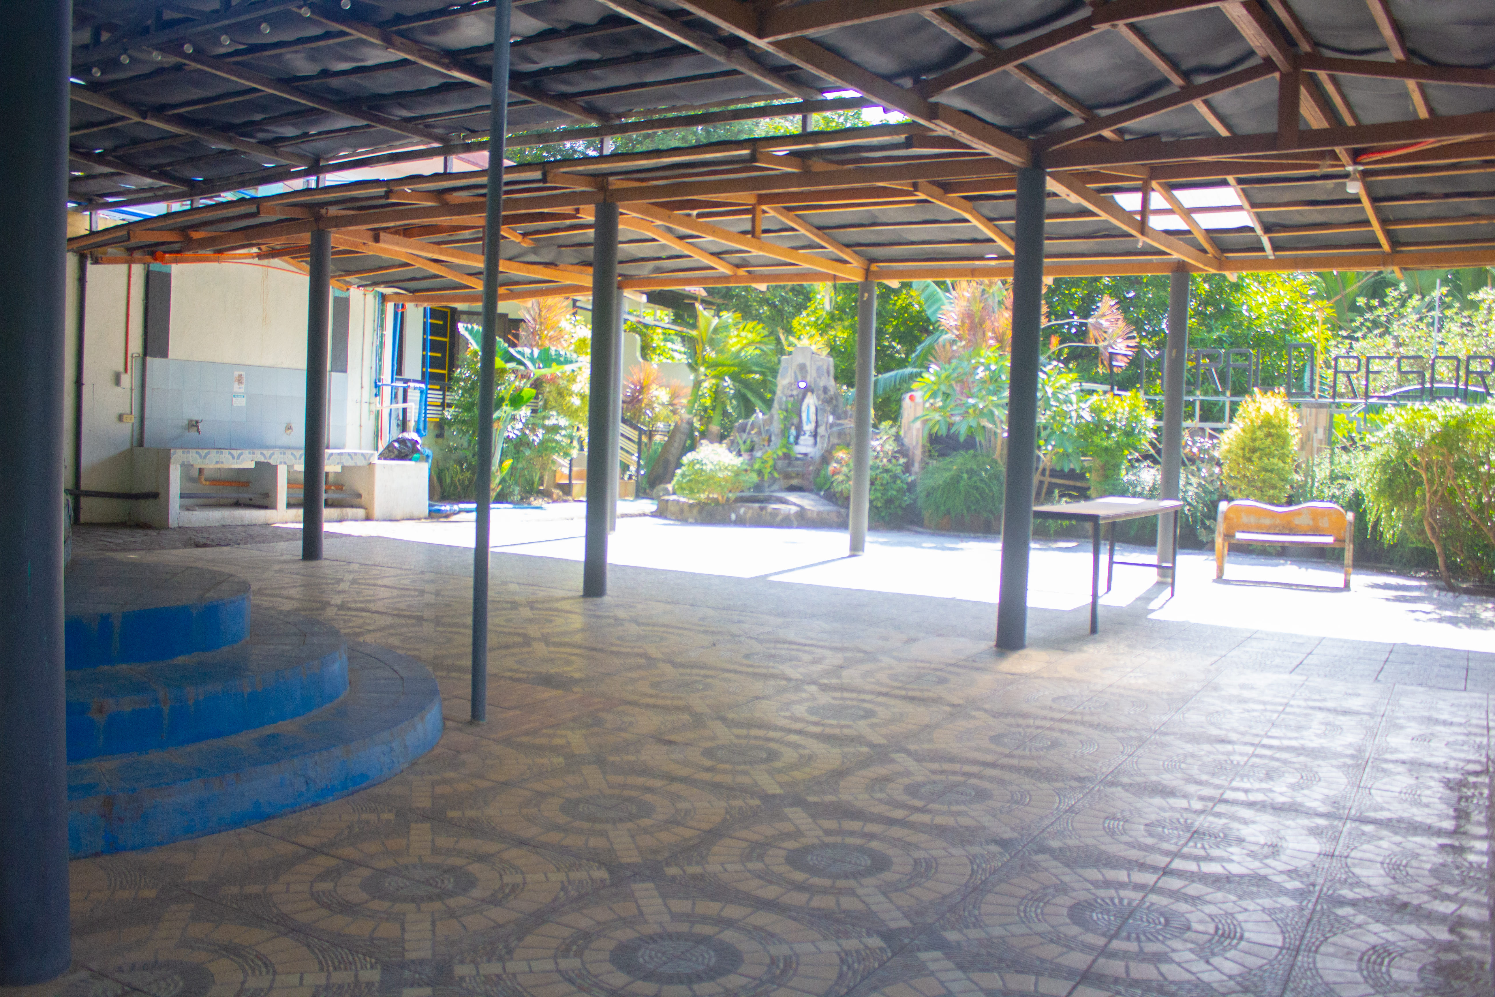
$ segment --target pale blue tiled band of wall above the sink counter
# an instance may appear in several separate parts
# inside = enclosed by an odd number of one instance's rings
[[[233,404],[233,374],[244,372],[244,405]],[[348,375],[327,384],[327,445],[347,445]],[[145,360],[147,447],[300,447],[305,444],[306,374],[290,368]],[[202,432],[187,420],[200,419]],[[286,432],[290,423],[292,432]]]

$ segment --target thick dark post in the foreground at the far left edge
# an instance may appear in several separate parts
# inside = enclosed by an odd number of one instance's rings
[[[0,475],[0,987],[72,960],[63,680],[63,399],[67,398],[67,3],[9,6],[0,90],[16,151],[0,214],[9,416],[25,463]],[[82,302],[78,302],[82,308]]]

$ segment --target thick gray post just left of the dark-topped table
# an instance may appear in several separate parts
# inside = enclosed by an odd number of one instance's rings
[[[997,647],[1027,646],[1029,546],[1038,462],[1039,327],[1044,323],[1044,212],[1039,166],[1018,170],[1017,250],[1012,254],[1012,368],[1008,381],[1008,484],[1002,505],[1002,592]]]

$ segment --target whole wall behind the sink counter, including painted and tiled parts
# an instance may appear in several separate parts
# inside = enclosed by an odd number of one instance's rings
[[[79,387],[75,384],[79,257],[70,254],[67,266],[67,318],[61,330],[67,342],[67,383],[60,399],[67,426],[67,487],[73,487],[73,426],[79,392],[85,490],[136,490],[132,447],[302,445],[306,363],[303,274],[281,265],[194,263],[170,268],[169,347],[166,356],[145,357],[147,268],[90,265]],[[333,447],[372,450],[378,426],[372,396],[378,318],[375,296],[354,288],[342,300],[348,312],[347,371],[329,378],[329,442]],[[419,371],[419,344],[416,362]],[[247,398],[242,407],[233,405],[232,398],[236,371],[245,374]],[[135,420],[121,422],[121,414],[133,414]],[[188,419],[203,420],[202,433],[187,432]],[[293,427],[290,435],[284,432],[286,423]],[[82,499],[82,516],[84,522],[129,522],[132,504]]]

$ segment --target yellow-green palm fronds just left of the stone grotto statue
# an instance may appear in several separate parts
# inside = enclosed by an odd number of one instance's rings
[[[762,326],[697,305],[695,327],[670,335],[685,348],[695,377],[688,411],[698,426],[730,426],[771,408],[777,353]]]

